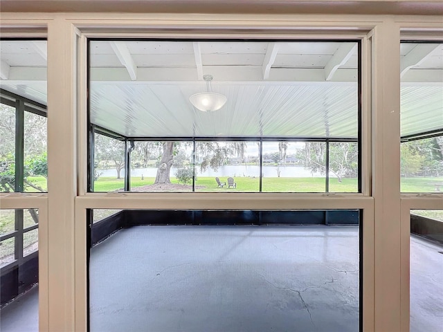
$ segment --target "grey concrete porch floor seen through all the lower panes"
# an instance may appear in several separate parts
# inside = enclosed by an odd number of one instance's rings
[[[132,245],[130,245],[132,244]],[[411,237],[410,331],[441,332],[443,246]],[[138,226],[91,251],[91,331],[358,331],[358,229]],[[37,288],[1,331],[37,331]]]

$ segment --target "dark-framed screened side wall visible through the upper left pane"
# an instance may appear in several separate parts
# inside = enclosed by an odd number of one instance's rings
[[[0,91],[0,191],[47,192],[46,107]]]

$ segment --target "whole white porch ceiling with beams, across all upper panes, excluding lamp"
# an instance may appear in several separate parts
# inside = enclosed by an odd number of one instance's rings
[[[1,46],[1,88],[46,104],[46,42]],[[129,137],[357,137],[345,42],[90,42],[91,122]],[[401,44],[401,135],[443,129],[443,44]],[[203,75],[228,102],[201,112]]]

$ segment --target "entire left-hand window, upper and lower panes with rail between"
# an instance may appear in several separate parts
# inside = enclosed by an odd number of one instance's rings
[[[23,199],[48,192],[46,40],[2,38],[0,55],[1,330],[32,331],[38,325],[39,221],[47,203]]]

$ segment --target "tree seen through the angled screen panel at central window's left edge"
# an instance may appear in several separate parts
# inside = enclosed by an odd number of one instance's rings
[[[125,142],[98,133],[94,138],[95,159],[114,163],[117,178],[121,178],[120,173],[125,168]]]

